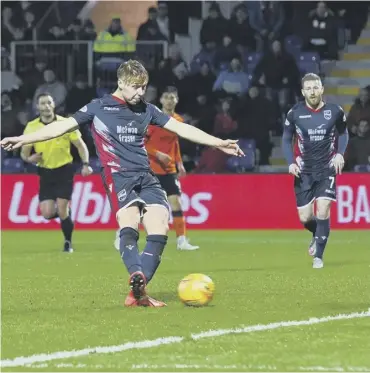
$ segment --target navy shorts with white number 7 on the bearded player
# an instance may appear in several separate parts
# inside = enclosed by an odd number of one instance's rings
[[[309,205],[316,199],[336,201],[336,176],[301,174],[294,178],[294,191],[298,208]]]

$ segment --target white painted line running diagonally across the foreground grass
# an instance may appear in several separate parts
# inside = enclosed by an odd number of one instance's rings
[[[325,323],[329,321],[358,319],[358,318],[364,318],[364,317],[370,317],[370,308],[365,312],[354,312],[350,314],[340,314],[336,316],[325,316],[325,317],[320,317],[320,318],[313,317],[308,320],[281,321],[281,322],[275,322],[275,323],[270,323],[270,324],[265,324],[265,325],[252,325],[252,326],[247,326],[243,328],[209,330],[207,332],[191,334],[190,338],[196,341],[198,339],[220,337],[222,335],[253,333],[253,332],[260,332],[264,330],[287,328],[287,327],[292,327],[292,326],[315,325],[315,324]],[[180,337],[180,336],[164,337],[164,338],[144,340],[144,341],[139,341],[139,342],[127,342],[127,343],[116,345],[116,346],[98,346],[98,347],[84,348],[82,350],[43,353],[43,354],[31,355],[27,357],[19,356],[19,357],[16,357],[15,359],[1,360],[0,366],[3,368],[18,367],[18,366],[25,366],[27,364],[41,363],[41,362],[51,361],[51,360],[87,356],[90,354],[111,354],[113,352],[122,352],[122,351],[133,350],[133,349],[150,348],[150,347],[157,347],[157,346],[162,346],[162,345],[169,345],[173,343],[180,343],[180,342],[186,341],[186,339],[187,337]]]

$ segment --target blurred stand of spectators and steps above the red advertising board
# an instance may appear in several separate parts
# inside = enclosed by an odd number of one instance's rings
[[[302,75],[315,72],[325,98],[348,114],[347,171],[370,170],[367,2],[148,3],[136,33],[109,1],[110,19],[97,27],[87,3],[2,2],[2,138],[21,134],[38,115],[40,93],[68,116],[112,92],[117,66],[135,58],[150,73],[148,102],[158,104],[163,89],[175,86],[176,111],[187,123],[239,138],[247,153],[238,160],[181,140],[189,172],[285,172],[284,115],[301,99]],[[82,132],[98,170],[89,129]],[[2,172],[22,171],[34,169],[17,153],[2,154]]]

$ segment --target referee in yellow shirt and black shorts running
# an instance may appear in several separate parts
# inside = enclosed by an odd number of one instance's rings
[[[43,93],[37,98],[37,109],[40,116],[27,123],[25,134],[35,132],[54,120],[65,119],[55,115],[54,100],[48,93]],[[21,157],[25,162],[38,166],[41,214],[45,219],[60,218],[64,235],[63,250],[69,253],[73,252],[73,222],[69,208],[74,177],[73,157],[70,152],[71,143],[77,148],[82,160],[81,174],[83,176],[90,175],[92,169],[89,166],[89,151],[78,130],[52,140],[23,146],[21,151]],[[34,148],[35,154],[31,155],[32,148]]]

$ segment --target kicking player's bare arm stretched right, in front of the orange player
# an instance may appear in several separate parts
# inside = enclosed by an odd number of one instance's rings
[[[226,154],[236,155],[239,157],[244,156],[243,151],[237,144],[238,140],[219,139],[218,137],[209,135],[208,133],[200,130],[199,128],[191,126],[190,124],[180,123],[174,118],[170,118],[170,120],[164,125],[164,128],[189,141],[218,148]]]

